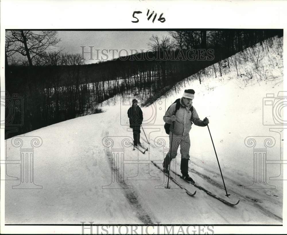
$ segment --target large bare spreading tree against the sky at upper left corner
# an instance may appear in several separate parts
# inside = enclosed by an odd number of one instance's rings
[[[6,57],[16,52],[27,57],[29,66],[38,65],[47,50],[55,47],[61,39],[57,38],[57,31],[6,31]]]

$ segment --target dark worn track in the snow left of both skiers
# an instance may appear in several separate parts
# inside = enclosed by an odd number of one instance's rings
[[[108,136],[108,132],[105,133],[105,136]],[[135,190],[133,189],[127,189],[126,188],[126,184],[125,181],[123,180],[122,175],[119,173],[119,169],[117,169],[113,164],[113,162],[111,161],[111,155],[110,155],[110,150],[108,148],[105,149],[105,154],[106,157],[110,159],[110,165],[114,171],[115,174],[118,175],[119,177],[119,186],[121,188],[123,188],[123,190],[125,190],[125,196],[127,198],[127,200],[129,201],[129,203],[135,208],[136,210],[136,214],[137,217],[143,221],[144,224],[153,224],[151,216],[145,211],[145,209],[141,206],[139,200],[138,200],[138,196],[137,193],[135,192]]]

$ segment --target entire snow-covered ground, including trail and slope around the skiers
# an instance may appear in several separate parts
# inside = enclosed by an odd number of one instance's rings
[[[5,181],[5,223],[282,224],[282,180],[269,179],[280,175],[279,164],[267,164],[269,186],[245,188],[253,184],[254,171],[253,147],[245,145],[247,137],[253,136],[255,148],[261,152],[264,152],[264,140],[269,136],[274,138],[274,146],[266,147],[268,161],[280,160],[283,153],[280,148],[284,137],[280,131],[275,132],[281,126],[272,126],[274,112],[280,115],[283,111],[272,109],[274,105],[268,106],[265,102],[266,94],[270,93],[274,94],[274,98],[269,98],[273,104],[282,101],[278,92],[283,90],[283,38],[276,38],[272,47],[266,45],[267,41],[263,47],[257,45],[254,53],[247,49],[229,58],[230,69],[223,68],[222,77],[216,70],[215,78],[214,67],[210,66],[205,74],[201,71],[201,84],[193,79],[199,76],[195,74],[185,79],[186,87],[181,82],[177,92],[171,90],[153,105],[142,108],[143,127],[150,142],[150,145],[146,143],[141,131],[141,142],[149,148],[144,155],[133,151],[129,144],[132,132],[127,109],[131,96],[111,98],[110,106],[104,102],[103,113],[23,135],[23,141],[28,136],[42,139],[42,145],[34,148],[34,184],[41,185],[42,189],[12,189],[20,180]],[[218,64],[215,68],[218,69]],[[165,189],[166,177],[150,164],[152,160],[160,165],[168,151],[162,117],[184,89],[195,90],[193,106],[201,119],[208,116],[210,120],[227,191],[240,199],[235,207],[194,186],[186,186],[190,191],[197,190],[193,198],[174,183],[170,183],[171,189]],[[190,175],[199,185],[224,197],[208,128],[193,125],[190,138]],[[20,148],[12,145],[14,140],[15,137],[6,140],[7,160],[20,159]],[[173,166],[180,172],[179,152],[176,159],[177,164]],[[19,178],[19,164],[7,165],[7,175]]]

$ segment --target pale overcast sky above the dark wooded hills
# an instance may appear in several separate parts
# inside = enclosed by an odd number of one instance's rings
[[[120,56],[125,56],[126,51],[131,54],[131,49],[148,50],[150,47],[150,37],[158,35],[168,35],[167,31],[58,31],[58,37],[61,38],[59,47],[63,52],[82,54],[81,46],[85,46],[84,51],[90,52],[93,46],[93,59],[90,60],[90,54],[84,54],[85,64],[97,63],[99,60],[112,60]],[[99,51],[97,51],[99,50]],[[104,51],[102,51],[104,50]],[[106,50],[110,50],[109,53]],[[112,51],[117,50],[117,51]],[[120,51],[122,50],[122,51]],[[113,56],[114,53],[114,56]],[[107,56],[105,55],[107,54]],[[133,51],[132,54],[135,54]]]

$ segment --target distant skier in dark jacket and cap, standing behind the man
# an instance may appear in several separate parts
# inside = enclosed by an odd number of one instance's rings
[[[133,128],[133,143],[135,146],[140,145],[140,128],[144,118],[141,108],[137,105],[136,99],[133,99],[132,106],[127,110],[127,116],[129,117],[129,127]]]

